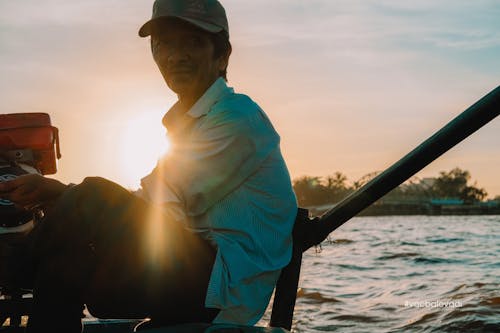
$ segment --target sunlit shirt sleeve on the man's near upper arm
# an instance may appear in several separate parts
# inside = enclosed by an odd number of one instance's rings
[[[242,186],[278,144],[278,134],[256,105],[250,112],[210,112],[158,167],[186,214],[197,216]]]

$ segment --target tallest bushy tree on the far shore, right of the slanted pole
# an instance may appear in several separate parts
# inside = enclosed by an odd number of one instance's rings
[[[433,194],[441,198],[462,199],[465,202],[482,201],[488,193],[483,188],[469,186],[471,176],[469,171],[454,168],[451,171],[441,171],[432,187]]]

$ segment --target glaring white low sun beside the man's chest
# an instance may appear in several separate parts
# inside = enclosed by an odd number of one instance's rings
[[[130,117],[121,130],[119,147],[120,178],[130,189],[137,189],[140,180],[166,154],[170,143],[158,112],[143,112]]]

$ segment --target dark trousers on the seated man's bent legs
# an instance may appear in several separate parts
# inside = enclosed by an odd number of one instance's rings
[[[31,235],[28,332],[80,332],[99,318],[211,322],[204,306],[214,247],[163,210],[102,178],[68,189]]]

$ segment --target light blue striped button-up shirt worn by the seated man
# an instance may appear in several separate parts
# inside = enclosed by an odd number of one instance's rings
[[[291,258],[297,212],[280,137],[262,109],[222,78],[164,117],[169,153],[142,179],[153,202],[216,245],[205,306],[216,323],[253,325]]]

